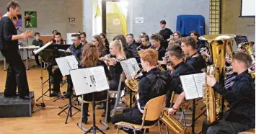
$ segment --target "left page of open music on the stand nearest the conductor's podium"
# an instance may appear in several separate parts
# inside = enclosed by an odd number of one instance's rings
[[[66,58],[56,58],[56,62],[58,64],[58,68],[61,70],[62,76],[69,75],[71,68],[69,67],[69,63],[66,61]]]

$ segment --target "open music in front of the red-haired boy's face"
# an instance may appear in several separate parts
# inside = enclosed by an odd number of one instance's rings
[[[127,60],[120,61],[120,63],[127,79],[133,79],[133,76],[135,76],[140,70],[135,58],[129,58]],[[142,73],[139,73],[138,76],[142,76]]]

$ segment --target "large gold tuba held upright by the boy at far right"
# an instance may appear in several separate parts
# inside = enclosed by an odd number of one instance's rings
[[[204,35],[200,36],[200,40],[207,40],[209,43],[209,51],[213,60],[213,65],[207,66],[207,75],[213,75],[216,81],[223,84],[226,76],[225,58],[227,45],[232,46],[236,35]],[[229,50],[228,50],[229,51]],[[212,123],[221,120],[224,109],[224,102],[220,94],[217,94],[211,86],[207,84],[203,88],[203,102],[206,104],[207,122]]]

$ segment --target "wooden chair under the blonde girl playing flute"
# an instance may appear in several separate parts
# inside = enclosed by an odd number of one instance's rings
[[[109,94],[116,94],[116,99],[115,99],[115,106],[111,111],[111,115],[110,117],[113,117],[115,115],[115,111],[117,111],[118,109],[123,109],[124,107],[118,107],[118,104],[120,102],[120,97],[121,97],[121,84],[122,82],[125,82],[126,76],[125,73],[121,73],[120,75],[120,79],[119,79],[119,84],[118,84],[118,90],[117,91],[109,91]]]

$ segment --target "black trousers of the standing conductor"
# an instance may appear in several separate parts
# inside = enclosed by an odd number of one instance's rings
[[[9,63],[4,95],[16,94],[17,86],[19,97],[30,95],[27,84],[26,68],[18,51],[1,50],[1,53]]]

